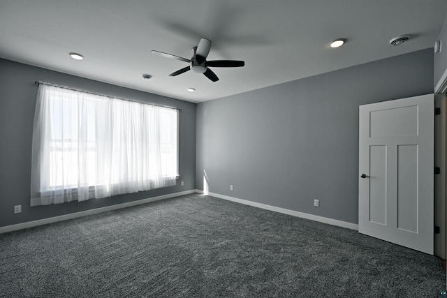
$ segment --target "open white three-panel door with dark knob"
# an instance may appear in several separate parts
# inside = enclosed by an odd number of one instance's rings
[[[433,254],[434,96],[359,112],[358,231]]]

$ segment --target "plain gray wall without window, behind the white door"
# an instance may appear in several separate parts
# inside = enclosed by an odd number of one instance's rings
[[[427,49],[200,103],[196,188],[358,223],[358,106],[432,90]]]

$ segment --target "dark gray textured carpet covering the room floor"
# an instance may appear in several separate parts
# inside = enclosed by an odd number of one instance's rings
[[[186,195],[0,234],[0,297],[437,297],[439,258]]]

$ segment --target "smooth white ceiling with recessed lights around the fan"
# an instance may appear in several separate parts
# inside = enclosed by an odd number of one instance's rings
[[[1,0],[0,57],[198,103],[432,47],[446,13],[445,0]],[[187,64],[150,53],[189,59],[202,37],[208,60],[245,66],[169,77]]]

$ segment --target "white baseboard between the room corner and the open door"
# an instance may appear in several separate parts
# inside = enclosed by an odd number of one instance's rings
[[[196,192],[203,193],[203,191],[200,191],[198,189],[196,190]],[[214,198],[237,202],[240,204],[258,207],[261,209],[266,209],[266,210],[270,210],[270,211],[274,211],[274,212],[288,214],[288,215],[296,216],[296,217],[300,217],[300,218],[306,218],[306,219],[310,219],[312,221],[319,221],[320,223],[328,223],[329,225],[337,225],[338,227],[348,228],[351,230],[358,231],[358,225],[356,223],[348,223],[347,221],[338,221],[337,219],[327,218],[327,217],[323,217],[323,216],[317,216],[317,215],[308,214],[308,213],[304,213],[304,212],[293,211],[290,209],[274,207],[274,206],[271,206],[268,204],[261,204],[261,203],[257,203],[257,202],[251,202],[251,201],[242,200],[242,199],[238,199],[238,198],[228,197],[228,195],[219,195],[219,193],[208,193],[208,195],[210,195]]]

